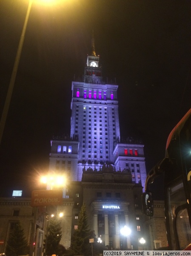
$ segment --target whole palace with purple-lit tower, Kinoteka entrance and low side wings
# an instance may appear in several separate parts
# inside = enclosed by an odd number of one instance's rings
[[[109,249],[152,250],[166,246],[164,204],[154,204],[157,209],[153,218],[143,216],[144,145],[132,137],[120,137],[118,85],[104,82],[94,40],[83,80],[75,80],[71,86],[70,136],[54,136],[51,140],[49,172],[66,177],[63,204],[57,207],[64,214],[60,244],[70,247],[84,203],[89,228]],[[47,184],[47,189],[52,187]],[[17,220],[30,244],[35,225],[31,198],[0,198],[0,205],[0,239],[5,241],[2,250]],[[131,230],[128,236],[120,232],[125,226]],[[45,220],[37,221],[36,239],[37,231],[46,234],[46,229]],[[142,237],[146,240],[144,247],[140,244]]]

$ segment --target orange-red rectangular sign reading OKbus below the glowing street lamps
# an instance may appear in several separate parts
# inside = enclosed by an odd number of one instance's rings
[[[31,196],[31,206],[48,206],[63,204],[62,189],[55,190],[34,190]]]

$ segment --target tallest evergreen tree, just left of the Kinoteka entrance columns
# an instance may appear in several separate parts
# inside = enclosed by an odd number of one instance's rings
[[[79,213],[77,229],[71,237],[71,250],[73,255],[91,255],[91,244],[89,239],[94,238],[97,242],[94,231],[88,229],[88,218],[86,215],[86,206],[82,205]]]

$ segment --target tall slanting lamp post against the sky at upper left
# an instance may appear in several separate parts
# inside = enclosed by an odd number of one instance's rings
[[[25,21],[24,21],[24,25],[23,25],[23,30],[20,36],[20,41],[19,41],[19,46],[17,49],[17,55],[14,61],[14,66],[13,66],[13,70],[12,70],[12,74],[11,74],[11,80],[9,83],[9,88],[7,91],[7,96],[6,96],[6,101],[4,104],[4,108],[3,108],[3,113],[1,116],[1,120],[0,120],[0,143],[1,143],[1,139],[3,136],[3,131],[5,128],[5,124],[6,124],[6,118],[7,118],[7,114],[9,111],[9,105],[11,102],[11,96],[12,96],[12,92],[13,92],[13,88],[14,88],[14,82],[15,82],[15,78],[17,76],[17,70],[18,70],[18,66],[19,66],[19,61],[20,61],[20,55],[23,49],[23,42],[24,42],[24,38],[25,38],[25,32],[26,32],[26,27],[27,27],[27,23],[29,20],[29,15],[30,15],[30,11],[31,11],[31,5],[32,5],[32,0],[29,0],[29,6],[26,12],[26,17],[25,17]]]

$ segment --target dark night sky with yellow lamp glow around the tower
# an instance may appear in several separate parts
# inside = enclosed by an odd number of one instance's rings
[[[0,113],[28,0],[0,0]],[[116,78],[121,137],[140,137],[147,172],[165,156],[168,134],[191,108],[191,1],[34,1],[0,145],[0,196],[42,189],[53,134],[70,134],[71,81],[87,54]]]

